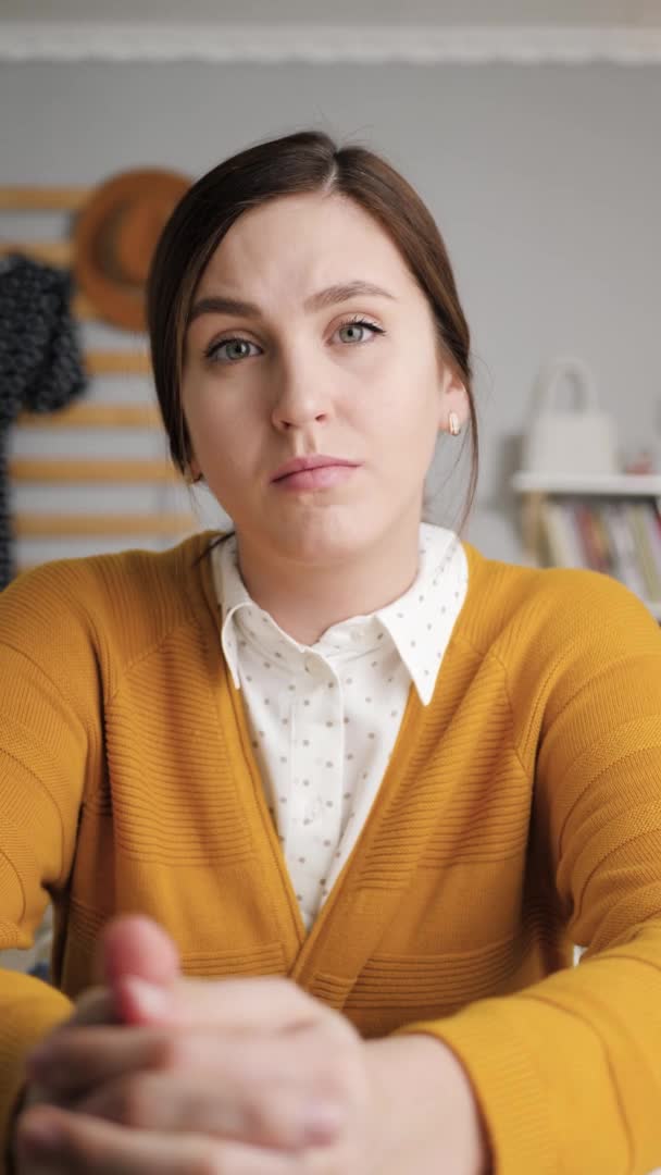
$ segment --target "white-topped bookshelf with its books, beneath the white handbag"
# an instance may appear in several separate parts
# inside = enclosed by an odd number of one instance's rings
[[[661,620],[661,475],[519,472],[526,557],[621,579]]]

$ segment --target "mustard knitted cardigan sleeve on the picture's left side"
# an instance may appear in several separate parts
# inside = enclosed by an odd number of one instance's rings
[[[99,709],[99,674],[73,589],[53,565],[0,593],[0,951],[32,946],[74,859],[97,741],[87,713]],[[0,971],[2,1150],[23,1058],[69,1013],[54,987]]]

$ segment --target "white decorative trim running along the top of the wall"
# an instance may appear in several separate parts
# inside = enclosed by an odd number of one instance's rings
[[[661,28],[0,21],[0,60],[661,65]]]

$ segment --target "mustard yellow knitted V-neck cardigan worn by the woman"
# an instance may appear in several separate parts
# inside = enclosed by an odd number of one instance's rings
[[[197,558],[210,537],[58,562],[0,595],[0,948],[32,944],[49,898],[56,925],[53,987],[0,973],[2,1121],[26,1050],[90,982],[100,927],[142,911],[190,975],[289,975],[365,1038],[445,1041],[498,1173],[660,1164],[661,634],[647,610],[603,576],[466,544],[433,699],[411,690],[306,935]]]

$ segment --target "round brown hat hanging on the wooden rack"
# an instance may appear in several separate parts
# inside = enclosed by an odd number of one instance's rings
[[[144,287],[156,242],[191,180],[177,172],[122,172],[94,189],[73,236],[75,282],[100,318],[144,330]]]

